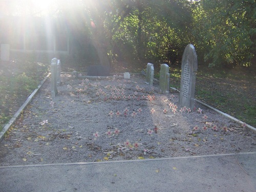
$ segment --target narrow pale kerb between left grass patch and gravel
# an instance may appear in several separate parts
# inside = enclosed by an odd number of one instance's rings
[[[45,83],[47,78],[50,76],[51,73],[49,73],[44,80],[40,82],[38,87],[30,94],[30,96],[27,98],[27,100],[23,103],[22,106],[18,109],[18,111],[13,115],[13,117],[10,119],[10,121],[4,126],[3,130],[0,132],[0,142],[4,139],[5,133],[10,129],[10,127],[13,125],[13,123],[17,120],[17,118],[22,114],[23,110],[28,106],[28,104],[31,102],[33,97],[36,95],[36,93],[41,88],[42,84]]]

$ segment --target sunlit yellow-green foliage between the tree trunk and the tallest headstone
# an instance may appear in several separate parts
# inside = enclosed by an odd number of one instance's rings
[[[136,1],[113,35],[114,58],[173,62],[181,58],[191,37],[186,26],[191,20],[188,5],[187,1]]]

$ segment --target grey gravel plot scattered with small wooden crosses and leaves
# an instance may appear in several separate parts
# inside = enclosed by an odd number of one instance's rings
[[[256,151],[254,133],[199,103],[180,112],[178,93],[160,94],[158,84],[144,81],[139,75],[82,80],[64,74],[51,99],[48,79],[0,143],[0,166]]]

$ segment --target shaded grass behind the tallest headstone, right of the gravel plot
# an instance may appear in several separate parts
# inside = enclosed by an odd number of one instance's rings
[[[180,89],[180,66],[170,67],[170,87]],[[252,126],[256,126],[255,73],[246,69],[210,69],[199,66],[197,99]]]

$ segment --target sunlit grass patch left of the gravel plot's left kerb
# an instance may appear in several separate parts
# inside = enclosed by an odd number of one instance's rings
[[[10,61],[0,63],[0,131],[49,71],[49,65]]]

